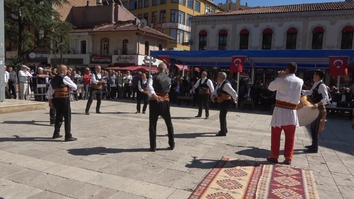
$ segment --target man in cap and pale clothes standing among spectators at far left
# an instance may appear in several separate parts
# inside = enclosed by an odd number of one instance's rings
[[[21,70],[19,71],[19,85],[20,85],[20,100],[31,100],[31,87],[29,86],[30,78],[32,75],[27,71],[27,66],[22,65]]]

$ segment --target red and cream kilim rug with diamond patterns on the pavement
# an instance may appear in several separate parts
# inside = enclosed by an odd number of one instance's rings
[[[222,157],[188,199],[319,199],[312,171]]]

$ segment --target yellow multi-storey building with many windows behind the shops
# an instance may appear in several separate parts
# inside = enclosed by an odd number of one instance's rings
[[[147,20],[150,27],[176,39],[167,44],[167,50],[190,50],[191,44],[198,43],[190,40],[190,17],[223,11],[207,0],[121,0],[121,2],[139,20]]]

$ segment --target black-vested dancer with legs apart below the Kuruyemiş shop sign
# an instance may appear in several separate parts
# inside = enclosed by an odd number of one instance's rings
[[[101,66],[97,65],[96,72],[94,74],[92,74],[92,76],[91,76],[90,96],[89,96],[89,100],[87,101],[86,110],[85,110],[86,115],[90,115],[90,113],[89,113],[90,107],[91,107],[92,102],[95,99],[95,96],[96,96],[96,100],[97,100],[96,113],[101,114],[101,112],[99,111],[99,107],[101,106],[102,84],[104,82],[105,82],[105,80],[103,80],[102,75],[101,75]]]

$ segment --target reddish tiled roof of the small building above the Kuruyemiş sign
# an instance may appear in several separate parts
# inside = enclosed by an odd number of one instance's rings
[[[152,29],[148,26],[139,27],[138,30],[137,25],[134,25],[133,21],[127,21],[126,23],[123,24],[102,24],[102,25],[95,26],[93,28],[78,28],[71,32],[78,33],[78,32],[104,32],[104,31],[142,31],[160,37],[164,37],[170,40],[175,40],[174,38],[166,34],[163,34],[155,29]]]

